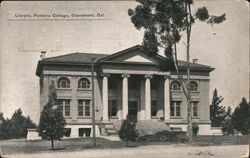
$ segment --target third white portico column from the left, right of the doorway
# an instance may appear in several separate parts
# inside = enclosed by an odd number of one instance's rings
[[[145,118],[146,120],[151,119],[151,86],[150,79],[152,75],[145,75]]]

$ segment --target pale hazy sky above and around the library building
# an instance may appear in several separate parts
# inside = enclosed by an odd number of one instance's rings
[[[19,107],[39,120],[39,78],[35,75],[40,52],[47,57],[74,52],[112,54],[141,44],[143,30],[136,30],[127,14],[135,1],[4,1],[0,10],[0,111],[10,118]],[[249,4],[245,0],[196,0],[192,9],[206,6],[211,15],[226,14],[220,25],[197,22],[191,37],[191,58],[215,68],[210,98],[216,88],[224,106],[249,100]],[[20,14],[94,14],[74,19],[20,17]],[[97,17],[103,15],[102,17]],[[178,58],[185,60],[185,45],[178,44]],[[162,54],[160,52],[160,54]],[[162,54],[163,55],[163,54]],[[211,99],[210,99],[211,100]]]

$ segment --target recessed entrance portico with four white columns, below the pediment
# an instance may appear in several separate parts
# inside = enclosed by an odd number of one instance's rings
[[[124,120],[127,115],[135,120],[170,119],[170,75],[154,74],[103,74],[103,121]],[[157,84],[152,84],[157,79]],[[113,81],[113,82],[112,82]],[[109,84],[116,84],[110,86]],[[114,88],[115,87],[115,88]],[[164,95],[164,97],[160,97]],[[110,100],[115,100],[116,115],[112,116]],[[154,101],[154,105],[152,104]],[[154,107],[153,107],[154,106]],[[153,114],[151,110],[155,111]]]

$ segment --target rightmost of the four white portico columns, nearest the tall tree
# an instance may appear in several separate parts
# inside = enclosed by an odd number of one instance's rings
[[[169,121],[170,119],[170,87],[169,78],[170,76],[165,76],[164,81],[164,120]]]

